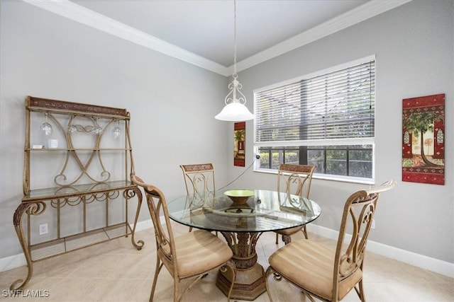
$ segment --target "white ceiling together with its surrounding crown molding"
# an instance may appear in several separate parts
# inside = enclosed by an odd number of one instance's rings
[[[23,0],[219,74],[232,73],[233,0]],[[238,0],[238,70],[410,0]]]

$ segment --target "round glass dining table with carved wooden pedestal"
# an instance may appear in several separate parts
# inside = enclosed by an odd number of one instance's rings
[[[231,298],[255,300],[266,291],[265,273],[255,245],[263,232],[304,226],[321,214],[311,199],[270,190],[253,190],[246,202],[233,202],[223,191],[184,195],[167,202],[170,219],[193,228],[217,231],[233,251],[237,276]],[[218,272],[216,286],[228,294],[232,278]]]

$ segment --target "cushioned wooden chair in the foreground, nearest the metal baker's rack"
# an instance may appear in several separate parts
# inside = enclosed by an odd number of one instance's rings
[[[164,194],[157,187],[145,184],[136,175],[131,176],[131,181],[143,188],[155,228],[156,269],[150,301],[153,301],[157,276],[162,265],[174,279],[174,301],[181,301],[184,294],[187,294],[187,291],[194,286],[196,281],[199,281],[211,270],[220,269],[222,272],[228,272],[229,269],[233,280],[235,280],[236,267],[231,260],[233,252],[223,240],[203,230],[174,237]],[[164,219],[163,224],[161,224],[161,218]],[[193,280],[189,282],[189,285],[184,286],[185,288],[180,295],[179,284],[187,279]],[[232,289],[233,282],[228,291],[228,301],[230,301]]]

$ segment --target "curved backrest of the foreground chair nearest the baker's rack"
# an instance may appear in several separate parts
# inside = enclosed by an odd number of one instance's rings
[[[136,175],[131,175],[131,182],[142,187],[147,197],[148,210],[150,211],[151,220],[155,228],[156,252],[160,256],[160,259],[163,259],[162,256],[164,256],[168,260],[164,264],[170,272],[173,272],[174,276],[177,276],[175,240],[164,194],[157,187],[147,185]],[[161,223],[160,217],[165,219],[164,224]]]

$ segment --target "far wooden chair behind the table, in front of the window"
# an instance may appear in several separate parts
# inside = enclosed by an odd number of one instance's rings
[[[282,163],[277,170],[277,191],[309,198],[312,175],[314,174],[315,168],[315,165]],[[304,233],[306,239],[309,238],[307,236],[306,225],[297,226],[295,228],[275,231],[276,244],[279,243],[279,235],[282,236],[282,241],[287,244],[292,241],[291,236],[299,231]]]

